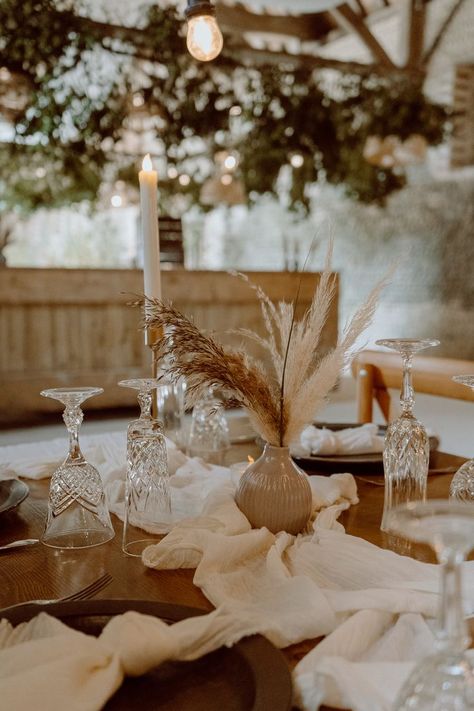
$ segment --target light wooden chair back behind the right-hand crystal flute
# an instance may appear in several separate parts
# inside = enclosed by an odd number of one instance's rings
[[[390,418],[389,388],[400,390],[402,359],[398,353],[365,350],[352,362],[352,373],[357,382],[357,419],[372,422],[376,400],[385,420]],[[474,401],[474,391],[452,380],[453,375],[474,375],[474,362],[455,358],[413,358],[413,386],[415,393],[426,393],[455,400]]]

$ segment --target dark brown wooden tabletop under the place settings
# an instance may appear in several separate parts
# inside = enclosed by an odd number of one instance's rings
[[[227,463],[258,454],[255,445],[234,446]],[[433,452],[428,477],[428,497],[447,498],[453,472],[465,460],[441,451]],[[317,470],[308,472],[318,474]],[[360,536],[382,548],[393,548],[393,539],[380,531],[383,509],[383,475],[373,470],[355,473],[359,503],[343,512],[340,522],[347,533]],[[29,496],[11,512],[0,517],[0,545],[14,539],[39,538],[47,509],[49,481],[27,481]],[[149,600],[185,605],[203,611],[213,609],[201,590],[193,584],[193,570],[152,570],[141,559],[125,555],[121,549],[122,522],[113,516],[115,538],[106,544],[81,550],[60,550],[44,545],[0,553],[0,608],[33,599],[58,598],[87,585],[108,572],[113,580],[98,599]],[[428,546],[413,545],[410,555],[434,562]],[[305,640],[283,650],[290,668],[318,643]]]

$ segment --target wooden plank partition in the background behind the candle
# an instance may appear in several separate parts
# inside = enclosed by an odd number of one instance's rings
[[[294,298],[299,280],[299,312],[311,302],[318,274],[252,272],[272,301]],[[164,271],[163,297],[201,328],[225,334],[240,327],[262,332],[255,292],[225,272]],[[138,270],[3,269],[0,271],[0,423],[58,410],[42,398],[46,387],[101,386],[105,393],[89,407],[119,407],[135,402],[117,386],[122,378],[149,373],[149,352],[139,330],[138,310],[127,306],[143,290]],[[337,338],[337,299],[325,328],[322,348]],[[256,346],[248,344],[248,348]]]

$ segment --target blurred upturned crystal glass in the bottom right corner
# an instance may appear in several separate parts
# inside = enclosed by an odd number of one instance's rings
[[[462,608],[461,562],[474,546],[474,505],[445,499],[410,502],[390,512],[387,528],[429,543],[442,564],[435,652],[409,676],[394,711],[472,711],[474,666],[465,652],[470,637]]]

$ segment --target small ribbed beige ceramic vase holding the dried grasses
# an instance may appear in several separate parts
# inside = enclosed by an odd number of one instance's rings
[[[297,534],[311,516],[308,476],[291,459],[288,447],[266,444],[242,475],[235,500],[253,528],[265,526],[272,533]]]

